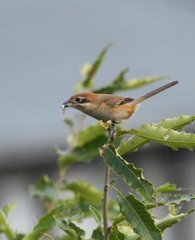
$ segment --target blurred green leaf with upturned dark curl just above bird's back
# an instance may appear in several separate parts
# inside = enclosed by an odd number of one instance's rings
[[[126,91],[129,89],[134,89],[137,87],[144,86],[146,84],[167,78],[168,76],[155,76],[155,77],[147,77],[147,78],[135,78],[126,80],[125,74],[129,71],[128,68],[121,71],[118,76],[112,81],[111,84],[97,89],[93,91],[94,93],[106,93],[106,94],[113,94],[115,92]]]

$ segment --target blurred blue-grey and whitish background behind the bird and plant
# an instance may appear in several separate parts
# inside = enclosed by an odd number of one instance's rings
[[[54,147],[65,149],[69,133],[60,105],[74,94],[83,64],[93,62],[108,42],[117,47],[110,48],[95,87],[107,85],[126,67],[131,68],[129,79],[168,74],[180,81],[147,100],[126,129],[194,114],[194,1],[2,0],[0,25],[0,207],[18,202],[11,215],[18,231],[30,232],[43,211],[39,200],[30,199],[29,184],[44,173],[51,178],[58,173]],[[169,81],[121,95],[134,98]],[[73,118],[75,110],[66,114]],[[126,156],[144,168],[155,187],[171,182],[183,188],[194,188],[194,158],[194,152],[158,144]],[[97,158],[87,167],[74,165],[67,179],[87,180],[102,189],[103,174]],[[184,211],[193,207],[187,203]],[[163,239],[193,239],[194,221],[190,215],[166,230]]]

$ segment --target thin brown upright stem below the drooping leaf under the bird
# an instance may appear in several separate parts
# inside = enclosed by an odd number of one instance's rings
[[[110,175],[110,168],[106,165],[105,181],[104,181],[104,196],[103,196],[103,222],[104,222],[104,240],[108,240],[108,181]]]

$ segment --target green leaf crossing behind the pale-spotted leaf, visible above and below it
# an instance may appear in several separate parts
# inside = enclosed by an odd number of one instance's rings
[[[160,123],[153,123],[151,126],[154,127],[163,127],[163,128],[171,128],[173,130],[179,130],[183,129],[185,125],[192,124],[195,120],[195,116],[185,116],[181,115],[177,118],[168,118],[163,119]],[[118,136],[124,135],[124,134],[131,134],[130,131],[119,131],[117,133]],[[136,151],[137,148],[143,144],[149,143],[150,140],[140,137],[140,136],[132,136],[128,140],[123,139],[121,141],[120,146],[117,148],[117,153],[119,155],[126,154],[128,152]]]

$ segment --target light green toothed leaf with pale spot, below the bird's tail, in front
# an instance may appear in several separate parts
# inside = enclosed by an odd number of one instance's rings
[[[131,129],[131,134],[143,137],[149,141],[158,142],[178,150],[178,148],[195,148],[195,134],[184,131],[177,132],[163,127],[154,127],[151,124],[143,124],[139,130]]]

